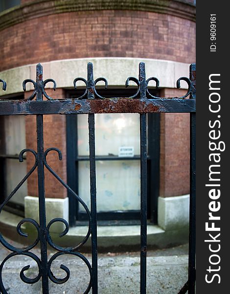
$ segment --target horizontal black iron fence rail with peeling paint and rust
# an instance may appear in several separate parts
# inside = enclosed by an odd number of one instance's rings
[[[196,111],[196,99],[1,100],[0,105],[0,115]]]

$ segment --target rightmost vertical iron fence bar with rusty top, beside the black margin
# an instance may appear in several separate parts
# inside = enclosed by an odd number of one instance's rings
[[[196,65],[190,65],[192,93],[196,98]],[[196,280],[196,113],[190,113],[190,200],[189,200],[189,248],[188,248],[188,294],[195,294]]]

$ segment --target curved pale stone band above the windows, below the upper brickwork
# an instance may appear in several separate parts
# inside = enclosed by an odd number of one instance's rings
[[[141,61],[145,63],[146,78],[151,76],[159,78],[162,88],[176,88],[178,78],[189,76],[189,64],[187,63],[147,58],[102,57],[43,62],[43,77],[44,80],[46,78],[54,79],[58,88],[73,88],[75,77],[87,78],[87,63],[92,62],[95,79],[102,76],[107,79],[109,87],[124,87],[128,76],[138,77],[138,64]],[[62,74],[60,74],[60,70]],[[7,83],[6,91],[0,89],[0,96],[23,92],[23,80],[27,78],[35,80],[35,76],[36,64],[28,64],[0,72],[0,77]],[[98,82],[98,85],[104,87],[104,82]],[[130,85],[136,86],[132,81]],[[82,81],[79,81],[77,86],[86,87]],[[155,87],[154,82],[150,82],[149,87]],[[46,88],[52,88],[52,83],[48,83]],[[187,89],[186,82],[181,81],[181,89]],[[26,90],[33,90],[32,83],[26,85]]]

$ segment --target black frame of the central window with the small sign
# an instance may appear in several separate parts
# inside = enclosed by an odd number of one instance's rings
[[[134,89],[127,92],[127,97],[133,95]],[[100,89],[100,95],[106,98],[119,97],[122,89]],[[153,90],[154,95],[159,93]],[[84,93],[83,89],[77,91],[67,90],[67,98],[77,98]],[[75,130],[75,131],[73,131]],[[67,183],[78,194],[78,162],[89,160],[88,156],[78,156],[77,150],[77,115],[66,116],[67,132]],[[139,156],[122,157],[122,160],[139,160]],[[96,156],[96,160],[121,160],[118,156]],[[148,211],[147,217],[153,224],[158,222],[158,197],[160,190],[160,113],[148,113]],[[68,193],[69,197],[69,225],[84,225],[88,223],[87,214],[78,212],[78,201]],[[97,213],[98,225],[138,224],[140,211],[109,211]]]

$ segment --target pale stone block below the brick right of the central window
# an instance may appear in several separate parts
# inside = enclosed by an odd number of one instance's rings
[[[189,195],[158,198],[158,224],[164,230],[188,228]]]

